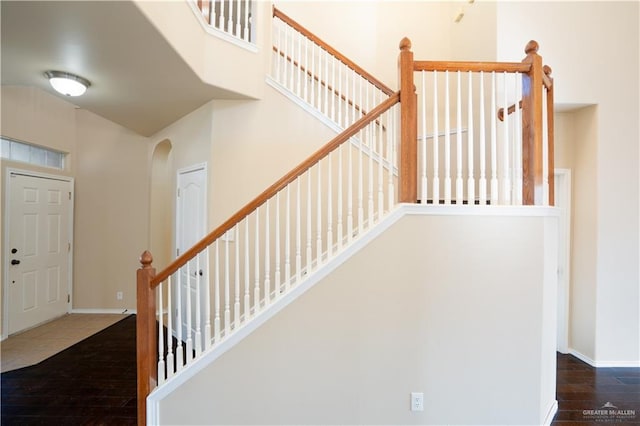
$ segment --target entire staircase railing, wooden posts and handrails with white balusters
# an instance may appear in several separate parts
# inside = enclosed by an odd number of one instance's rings
[[[404,39],[394,92],[276,8],[273,23],[270,84],[338,135],[162,271],[142,254],[139,424],[151,391],[294,303],[407,203],[553,205],[553,82],[537,43],[522,62],[432,62]]]

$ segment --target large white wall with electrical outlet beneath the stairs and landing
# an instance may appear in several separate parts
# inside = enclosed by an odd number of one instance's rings
[[[160,424],[542,424],[556,226],[403,217],[166,396]]]

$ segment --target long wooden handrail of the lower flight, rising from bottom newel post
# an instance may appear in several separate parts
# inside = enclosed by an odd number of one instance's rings
[[[393,105],[400,101],[400,92],[394,93],[389,99],[385,99],[380,105],[372,109],[369,113],[367,113],[364,117],[357,120],[344,132],[340,133],[338,136],[329,141],[322,148],[313,153],[309,158],[304,160],[298,166],[296,166],[289,173],[280,178],[276,183],[271,185],[265,191],[263,191],[260,195],[242,207],[236,214],[231,216],[226,222],[222,225],[218,226],[216,229],[211,231],[207,236],[205,236],[202,240],[196,243],[189,250],[185,251],[182,255],[180,255],[176,260],[174,260],[169,266],[167,266],[163,271],[159,272],[150,282],[151,288],[157,287],[161,282],[166,280],[171,274],[176,272],[180,267],[185,265],[190,259],[195,257],[198,253],[204,250],[207,246],[211,245],[215,240],[224,235],[227,231],[233,228],[238,222],[251,214],[254,210],[264,204],[268,199],[274,197],[278,191],[285,188],[287,185],[292,183],[298,176],[302,175],[306,172],[310,167],[315,165],[317,162],[326,157],[330,152],[335,150],[338,146],[348,141],[352,136],[357,134],[362,128],[364,128],[367,124],[374,121],[380,114],[391,108]]]

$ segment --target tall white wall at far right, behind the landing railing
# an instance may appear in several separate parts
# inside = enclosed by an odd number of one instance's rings
[[[640,364],[639,8],[498,3],[498,59],[511,57],[520,40],[535,39],[553,69],[556,102],[597,105],[579,117],[575,155],[584,162],[576,162],[574,175],[592,185],[574,193],[574,235],[586,235],[587,246],[574,252],[573,264],[593,266],[574,270],[572,287],[576,303],[590,305],[573,312],[574,349],[597,365]]]

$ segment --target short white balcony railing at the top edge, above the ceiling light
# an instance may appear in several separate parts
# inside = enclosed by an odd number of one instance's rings
[[[246,42],[252,41],[253,0],[190,0],[206,23],[222,33]]]

